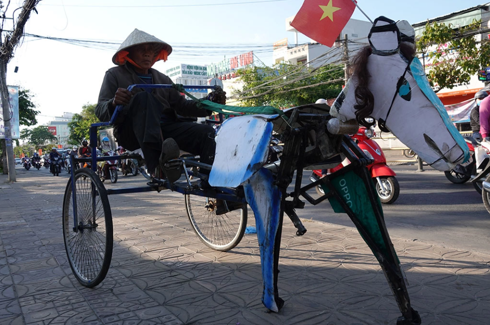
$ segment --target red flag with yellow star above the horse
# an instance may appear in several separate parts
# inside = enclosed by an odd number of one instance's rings
[[[305,0],[291,26],[332,47],[355,8],[353,0]]]

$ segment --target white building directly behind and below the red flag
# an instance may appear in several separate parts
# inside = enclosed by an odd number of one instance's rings
[[[310,39],[311,42],[309,43],[298,45],[299,31],[291,26],[291,21],[293,21],[293,19],[294,16],[286,18],[286,31],[295,33],[295,45],[288,45],[287,38],[275,42],[272,53],[274,63],[308,63],[307,66],[309,67],[317,67],[333,62],[339,62],[344,56],[343,44],[345,35],[347,35],[348,40],[349,56],[352,56],[353,53],[362,46],[368,45],[368,34],[372,26],[372,23],[369,21],[349,19],[335,44],[332,47],[328,47],[318,43],[314,39]],[[322,54],[325,55],[321,59],[314,60]]]

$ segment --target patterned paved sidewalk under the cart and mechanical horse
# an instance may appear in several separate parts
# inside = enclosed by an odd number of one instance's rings
[[[285,305],[266,312],[256,235],[229,252],[207,248],[190,229],[183,196],[170,191],[109,196],[111,268],[99,286],[83,287],[63,245],[67,178],[35,172],[18,170],[11,184],[0,175],[0,324],[379,325],[400,315],[357,231],[307,219],[302,237],[285,222]],[[392,239],[423,324],[490,323],[490,255]]]

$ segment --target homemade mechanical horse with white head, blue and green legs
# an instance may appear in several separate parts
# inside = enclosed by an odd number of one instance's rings
[[[371,159],[342,134],[349,130],[342,132],[342,123],[350,123],[350,130],[355,131],[358,121],[365,123],[364,118],[371,116],[437,169],[448,170],[468,158],[468,147],[429,87],[420,62],[400,50],[401,37],[393,20],[375,20],[371,46],[331,108],[326,104],[295,107],[285,111],[287,119],[279,115],[235,117],[226,120],[217,134],[209,184],[243,185],[256,218],[262,302],[270,310],[278,311],[284,303],[277,288],[283,215],[296,216],[294,209],[304,206],[301,195],[313,204],[328,198],[336,212],[348,214],[385,272],[402,312],[397,324],[421,322],[411,307],[405,275],[365,167]],[[285,143],[279,166],[265,165],[273,129]],[[301,188],[303,169],[333,167],[343,156],[352,163]],[[295,191],[288,193],[295,171]],[[306,191],[318,184],[326,194],[315,200]]]

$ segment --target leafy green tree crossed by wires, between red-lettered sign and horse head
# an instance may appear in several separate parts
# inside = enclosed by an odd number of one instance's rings
[[[288,108],[335,98],[342,90],[344,71],[340,65],[308,68],[280,63],[273,67],[251,66],[237,74],[245,83],[240,96],[245,106],[271,105]]]

